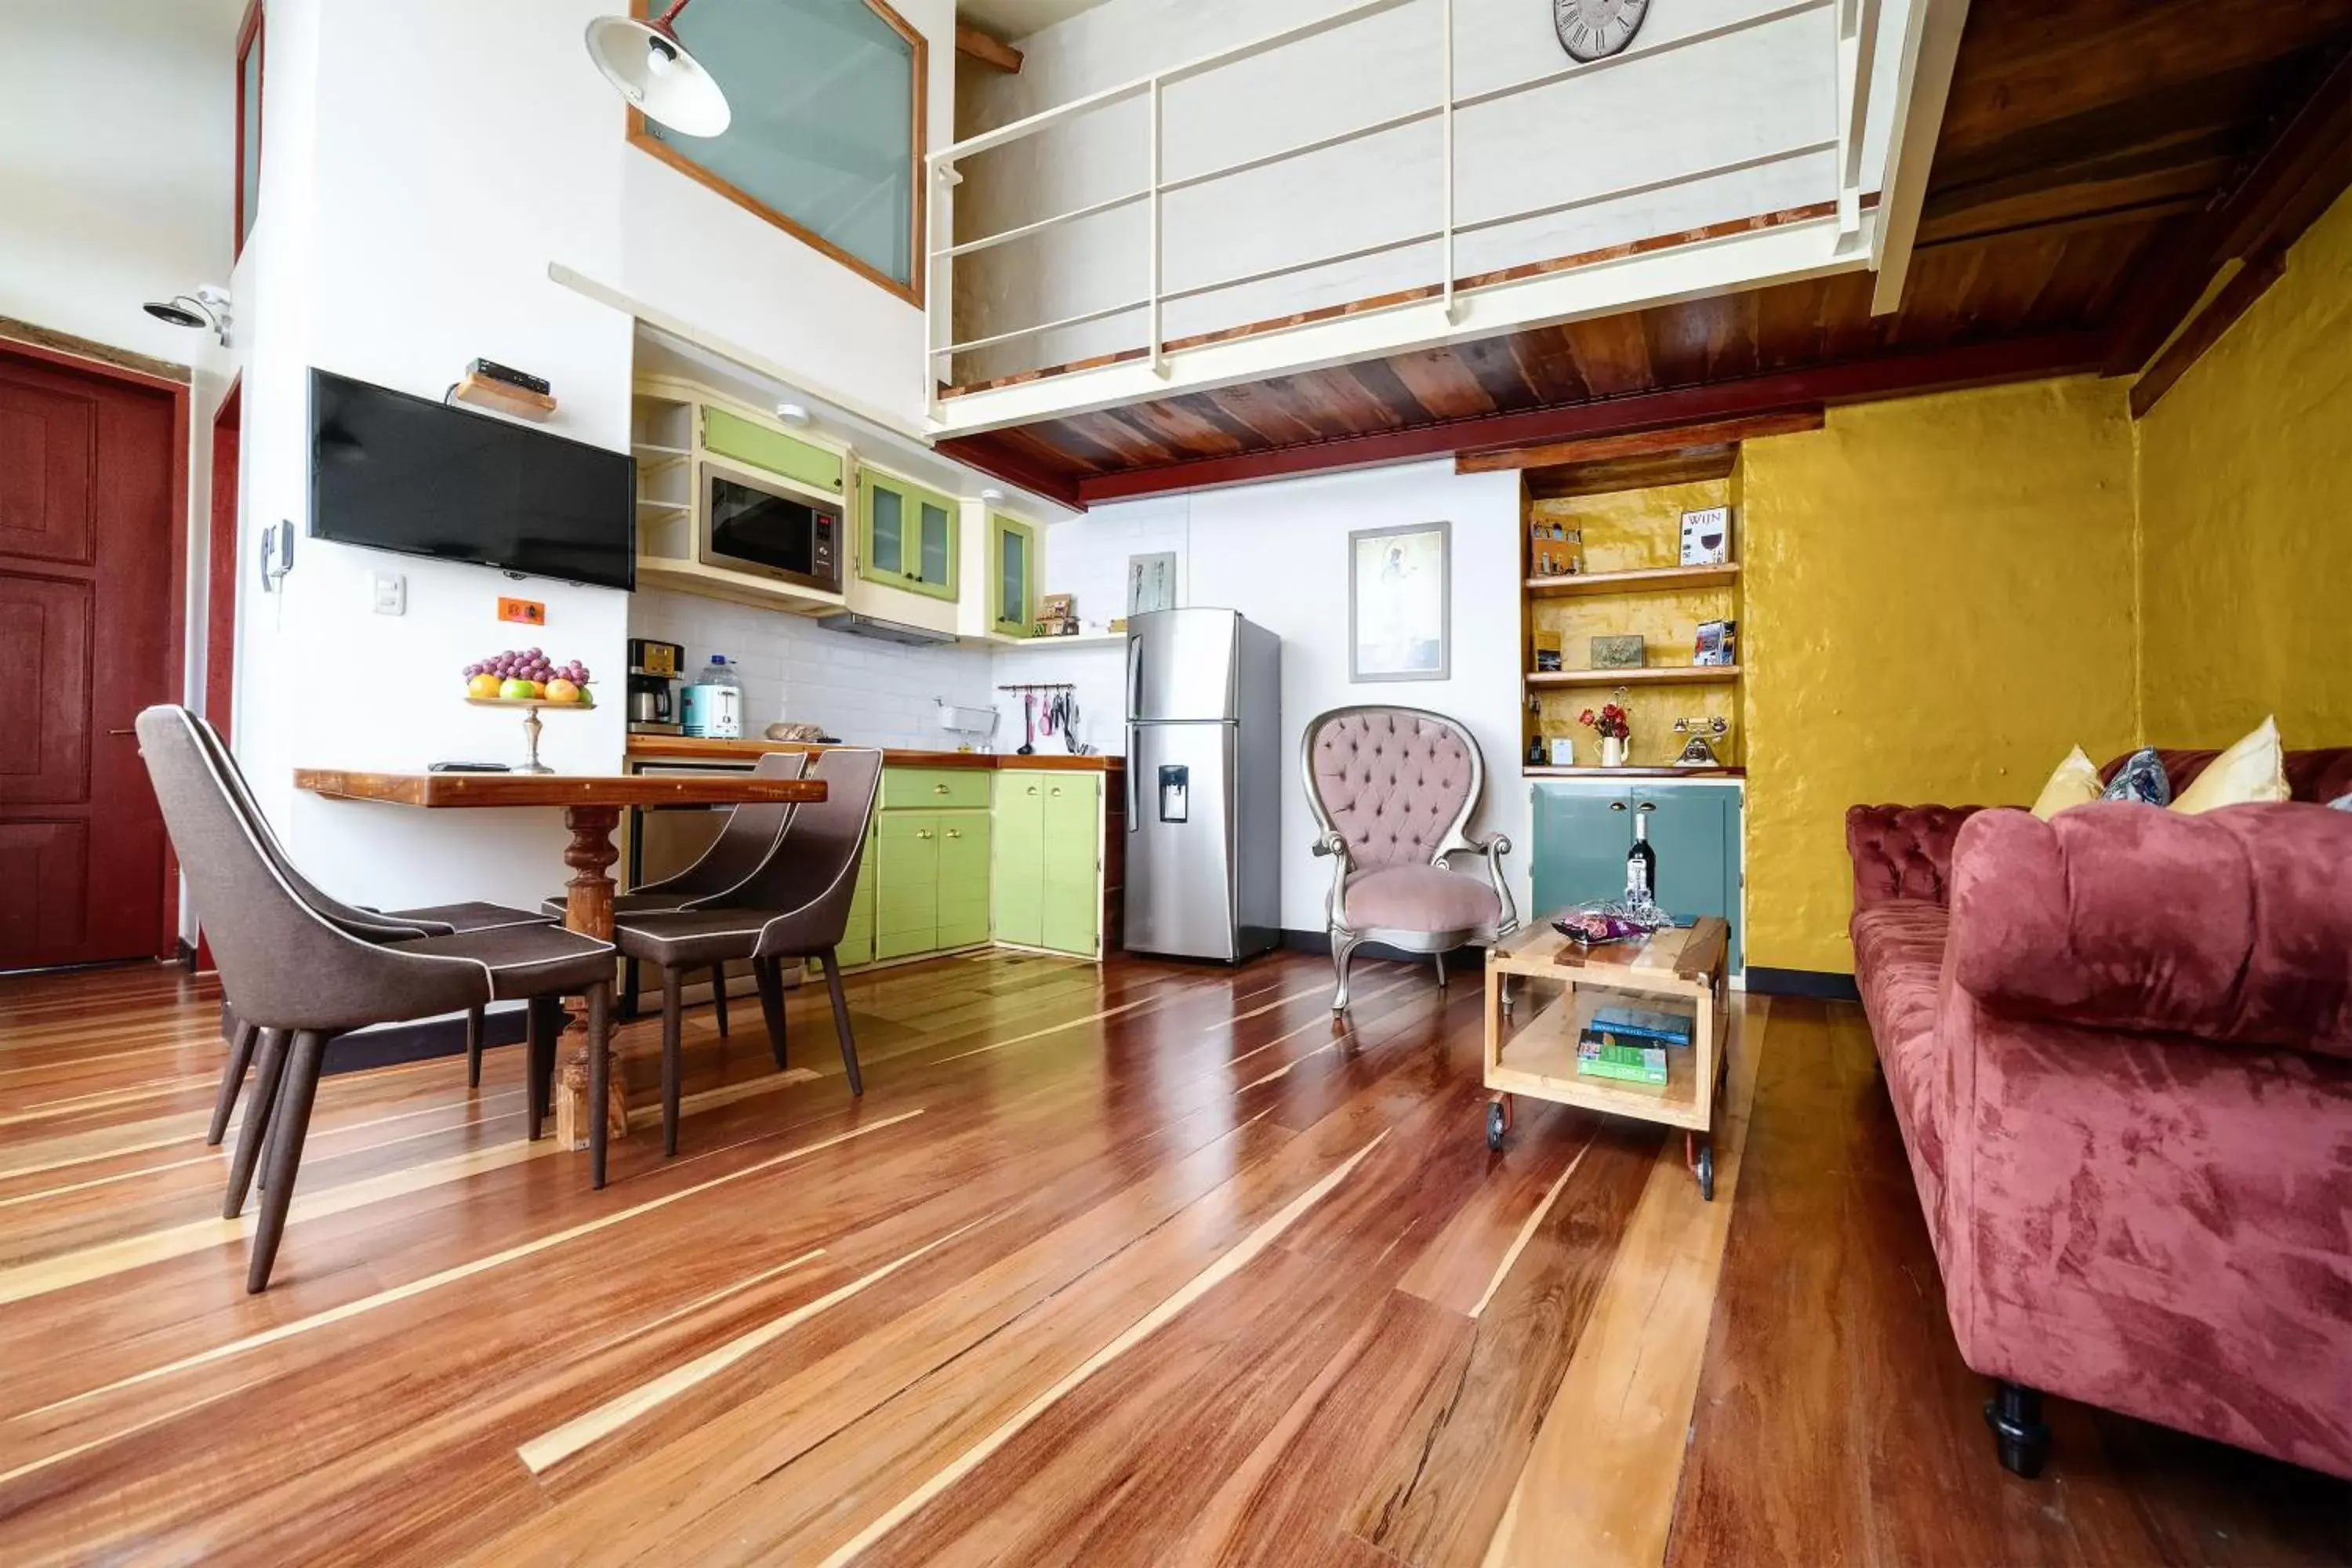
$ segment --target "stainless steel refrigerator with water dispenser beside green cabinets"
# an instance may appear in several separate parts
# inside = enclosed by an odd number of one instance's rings
[[[1230,609],[1127,623],[1127,947],[1282,940],[1282,639]]]

